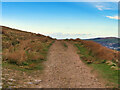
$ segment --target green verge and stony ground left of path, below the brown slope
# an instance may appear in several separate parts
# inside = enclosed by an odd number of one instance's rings
[[[29,82],[35,82],[44,69],[43,62],[46,61],[48,50],[53,43],[54,41],[44,48],[44,59],[27,60],[24,61],[22,65],[10,63],[9,61],[3,61],[3,88],[29,87]]]

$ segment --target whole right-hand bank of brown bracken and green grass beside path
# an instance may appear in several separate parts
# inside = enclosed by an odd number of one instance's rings
[[[109,49],[94,41],[81,39],[67,40],[78,48],[80,59],[93,68],[95,73],[99,73],[98,77],[106,80],[108,86],[118,87],[119,83],[119,58],[120,52]]]

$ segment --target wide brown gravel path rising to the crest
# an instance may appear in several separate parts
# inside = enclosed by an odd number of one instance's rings
[[[68,42],[56,41],[50,47],[45,66],[43,88],[104,88]]]

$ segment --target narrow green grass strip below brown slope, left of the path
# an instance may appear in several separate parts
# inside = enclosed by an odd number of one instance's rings
[[[42,70],[43,65],[42,63],[46,61],[47,53],[50,48],[50,46],[54,43],[52,41],[49,45],[46,45],[44,48],[44,59],[37,59],[37,60],[26,60],[22,62],[21,65],[18,65],[16,63],[11,63],[9,61],[3,61],[2,65],[3,68],[10,68],[10,69],[15,69],[15,70],[20,70],[20,71],[34,71],[34,70]]]

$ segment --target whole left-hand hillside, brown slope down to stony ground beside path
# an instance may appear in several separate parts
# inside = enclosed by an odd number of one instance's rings
[[[29,87],[42,73],[55,39],[41,34],[2,27],[3,88]],[[30,84],[31,85],[31,84]]]

